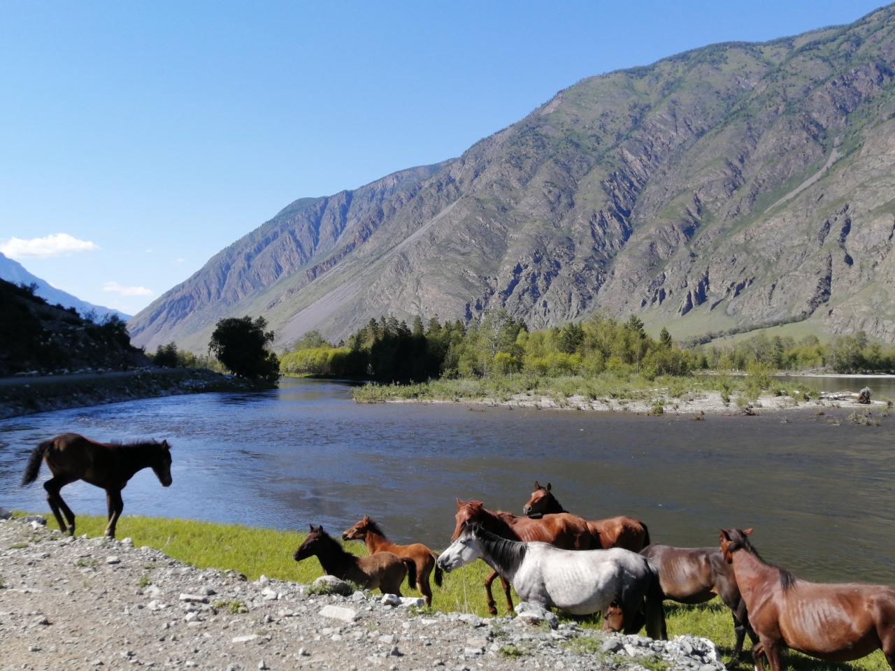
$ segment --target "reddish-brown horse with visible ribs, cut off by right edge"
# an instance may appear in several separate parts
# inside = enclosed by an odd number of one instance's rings
[[[895,587],[858,583],[823,584],[798,579],[766,564],[746,537],[751,529],[721,530],[724,561],[733,565],[759,642],[755,667],[780,671],[781,653],[792,648],[831,662],[882,649],[895,671]]]

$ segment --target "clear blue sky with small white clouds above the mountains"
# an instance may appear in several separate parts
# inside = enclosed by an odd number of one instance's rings
[[[583,77],[877,6],[6,2],[0,251],[135,313],[292,200],[457,156]]]

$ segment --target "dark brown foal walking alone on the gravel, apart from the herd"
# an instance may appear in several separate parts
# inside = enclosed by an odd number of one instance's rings
[[[42,462],[47,462],[53,473],[53,477],[44,482],[47,503],[55,515],[59,530],[63,533],[68,531],[72,536],[74,513],[59,493],[65,485],[84,480],[106,490],[106,535],[113,539],[115,525],[124,510],[121,490],[137,471],[151,468],[163,487],[171,486],[171,450],[166,440],[161,443],[155,440],[128,444],[98,443],[76,433],[64,433],[45,440],[31,451],[25,475],[21,479],[22,486],[30,485],[37,479]]]

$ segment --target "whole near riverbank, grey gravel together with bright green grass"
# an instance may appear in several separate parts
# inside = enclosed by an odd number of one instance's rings
[[[489,618],[481,562],[447,574],[432,610],[387,607],[379,591],[313,593],[318,562],[292,559],[302,534],[125,516],[119,532],[131,540],[115,541],[101,538],[101,518],[78,523],[87,538],[63,537],[52,522],[0,522],[0,646],[15,668],[254,669],[262,660],[271,669],[638,668],[632,651],[650,669],[720,668],[644,639],[607,637],[593,618],[561,616],[556,630]],[[362,552],[360,543],[347,547]],[[354,615],[321,612],[333,606]],[[733,630],[720,603],[667,611],[669,637],[704,637],[729,659]],[[796,653],[790,662],[800,671],[842,668]],[[852,667],[886,668],[879,652]]]

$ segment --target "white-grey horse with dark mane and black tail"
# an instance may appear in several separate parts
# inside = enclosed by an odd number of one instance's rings
[[[573,615],[621,611],[610,628],[637,633],[646,616],[647,633],[667,639],[659,573],[650,561],[622,548],[565,550],[548,543],[502,539],[477,523],[466,524],[441,553],[445,572],[482,559],[513,585],[520,599]],[[642,609],[642,607],[644,607]]]

